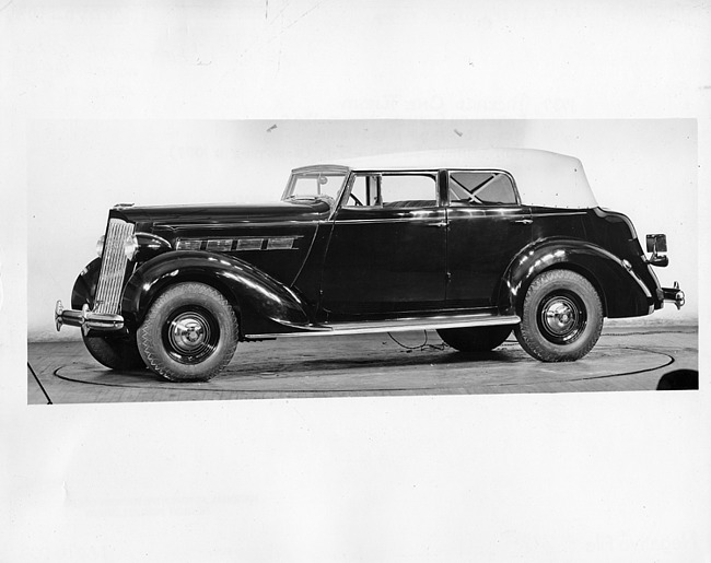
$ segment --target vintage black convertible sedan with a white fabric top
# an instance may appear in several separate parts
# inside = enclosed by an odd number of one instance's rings
[[[545,362],[603,318],[684,304],[666,238],[602,209],[579,160],[533,150],[400,154],[292,172],[265,206],[117,206],[57,329],[115,370],[209,379],[238,341],[435,329],[463,352],[515,331]]]

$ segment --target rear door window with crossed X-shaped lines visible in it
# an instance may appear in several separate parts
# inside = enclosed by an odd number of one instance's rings
[[[451,172],[450,203],[453,206],[514,204],[511,177],[501,172]]]

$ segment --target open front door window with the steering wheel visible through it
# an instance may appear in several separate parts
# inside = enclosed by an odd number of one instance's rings
[[[358,174],[347,207],[419,208],[434,207],[434,174]]]

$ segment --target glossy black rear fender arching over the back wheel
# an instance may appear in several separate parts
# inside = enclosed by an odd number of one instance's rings
[[[585,277],[599,293],[607,317],[650,313],[652,294],[640,278],[626,268],[621,258],[597,245],[572,238],[538,241],[526,247],[509,267],[499,303],[508,312],[520,313],[534,278],[556,268]]]

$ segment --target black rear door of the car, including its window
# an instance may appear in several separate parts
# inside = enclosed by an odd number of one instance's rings
[[[450,171],[447,307],[498,305],[503,274],[532,241],[531,209],[501,171]]]

